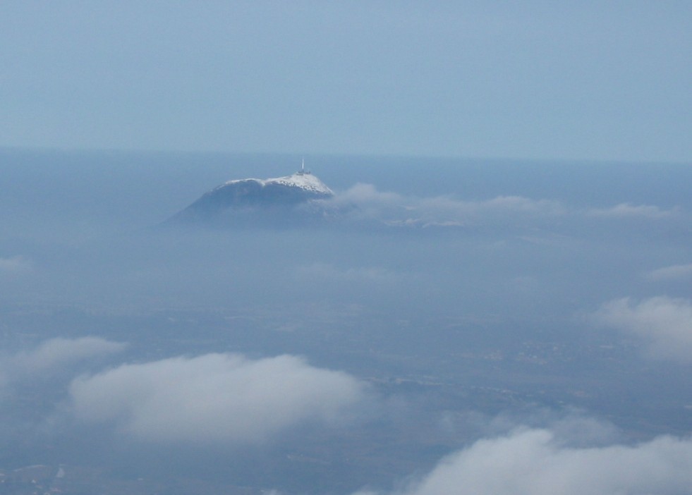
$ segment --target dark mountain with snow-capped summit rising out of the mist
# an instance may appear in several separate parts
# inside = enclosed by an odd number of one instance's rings
[[[317,176],[299,171],[291,176],[228,181],[205,193],[166,224],[211,226],[295,226],[329,216],[325,200],[334,193]]]

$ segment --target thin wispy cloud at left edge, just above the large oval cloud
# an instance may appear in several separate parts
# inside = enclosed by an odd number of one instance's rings
[[[21,352],[4,360],[8,371],[23,374],[45,372],[73,362],[119,353],[127,344],[100,337],[51,338],[34,350]]]

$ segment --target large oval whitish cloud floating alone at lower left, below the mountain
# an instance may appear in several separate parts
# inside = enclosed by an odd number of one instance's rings
[[[111,423],[137,439],[251,444],[308,420],[339,419],[363,386],[290,355],[207,354],[80,377],[70,395],[78,420]]]

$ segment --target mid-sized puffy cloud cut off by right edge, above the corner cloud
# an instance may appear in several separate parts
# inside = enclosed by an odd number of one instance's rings
[[[639,302],[607,302],[595,314],[598,322],[643,338],[651,357],[692,362],[692,304],[660,296]]]

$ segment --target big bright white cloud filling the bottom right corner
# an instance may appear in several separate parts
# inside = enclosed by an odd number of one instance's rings
[[[396,494],[682,495],[691,486],[691,439],[660,436],[633,446],[571,447],[550,429],[517,429],[442,459]]]

